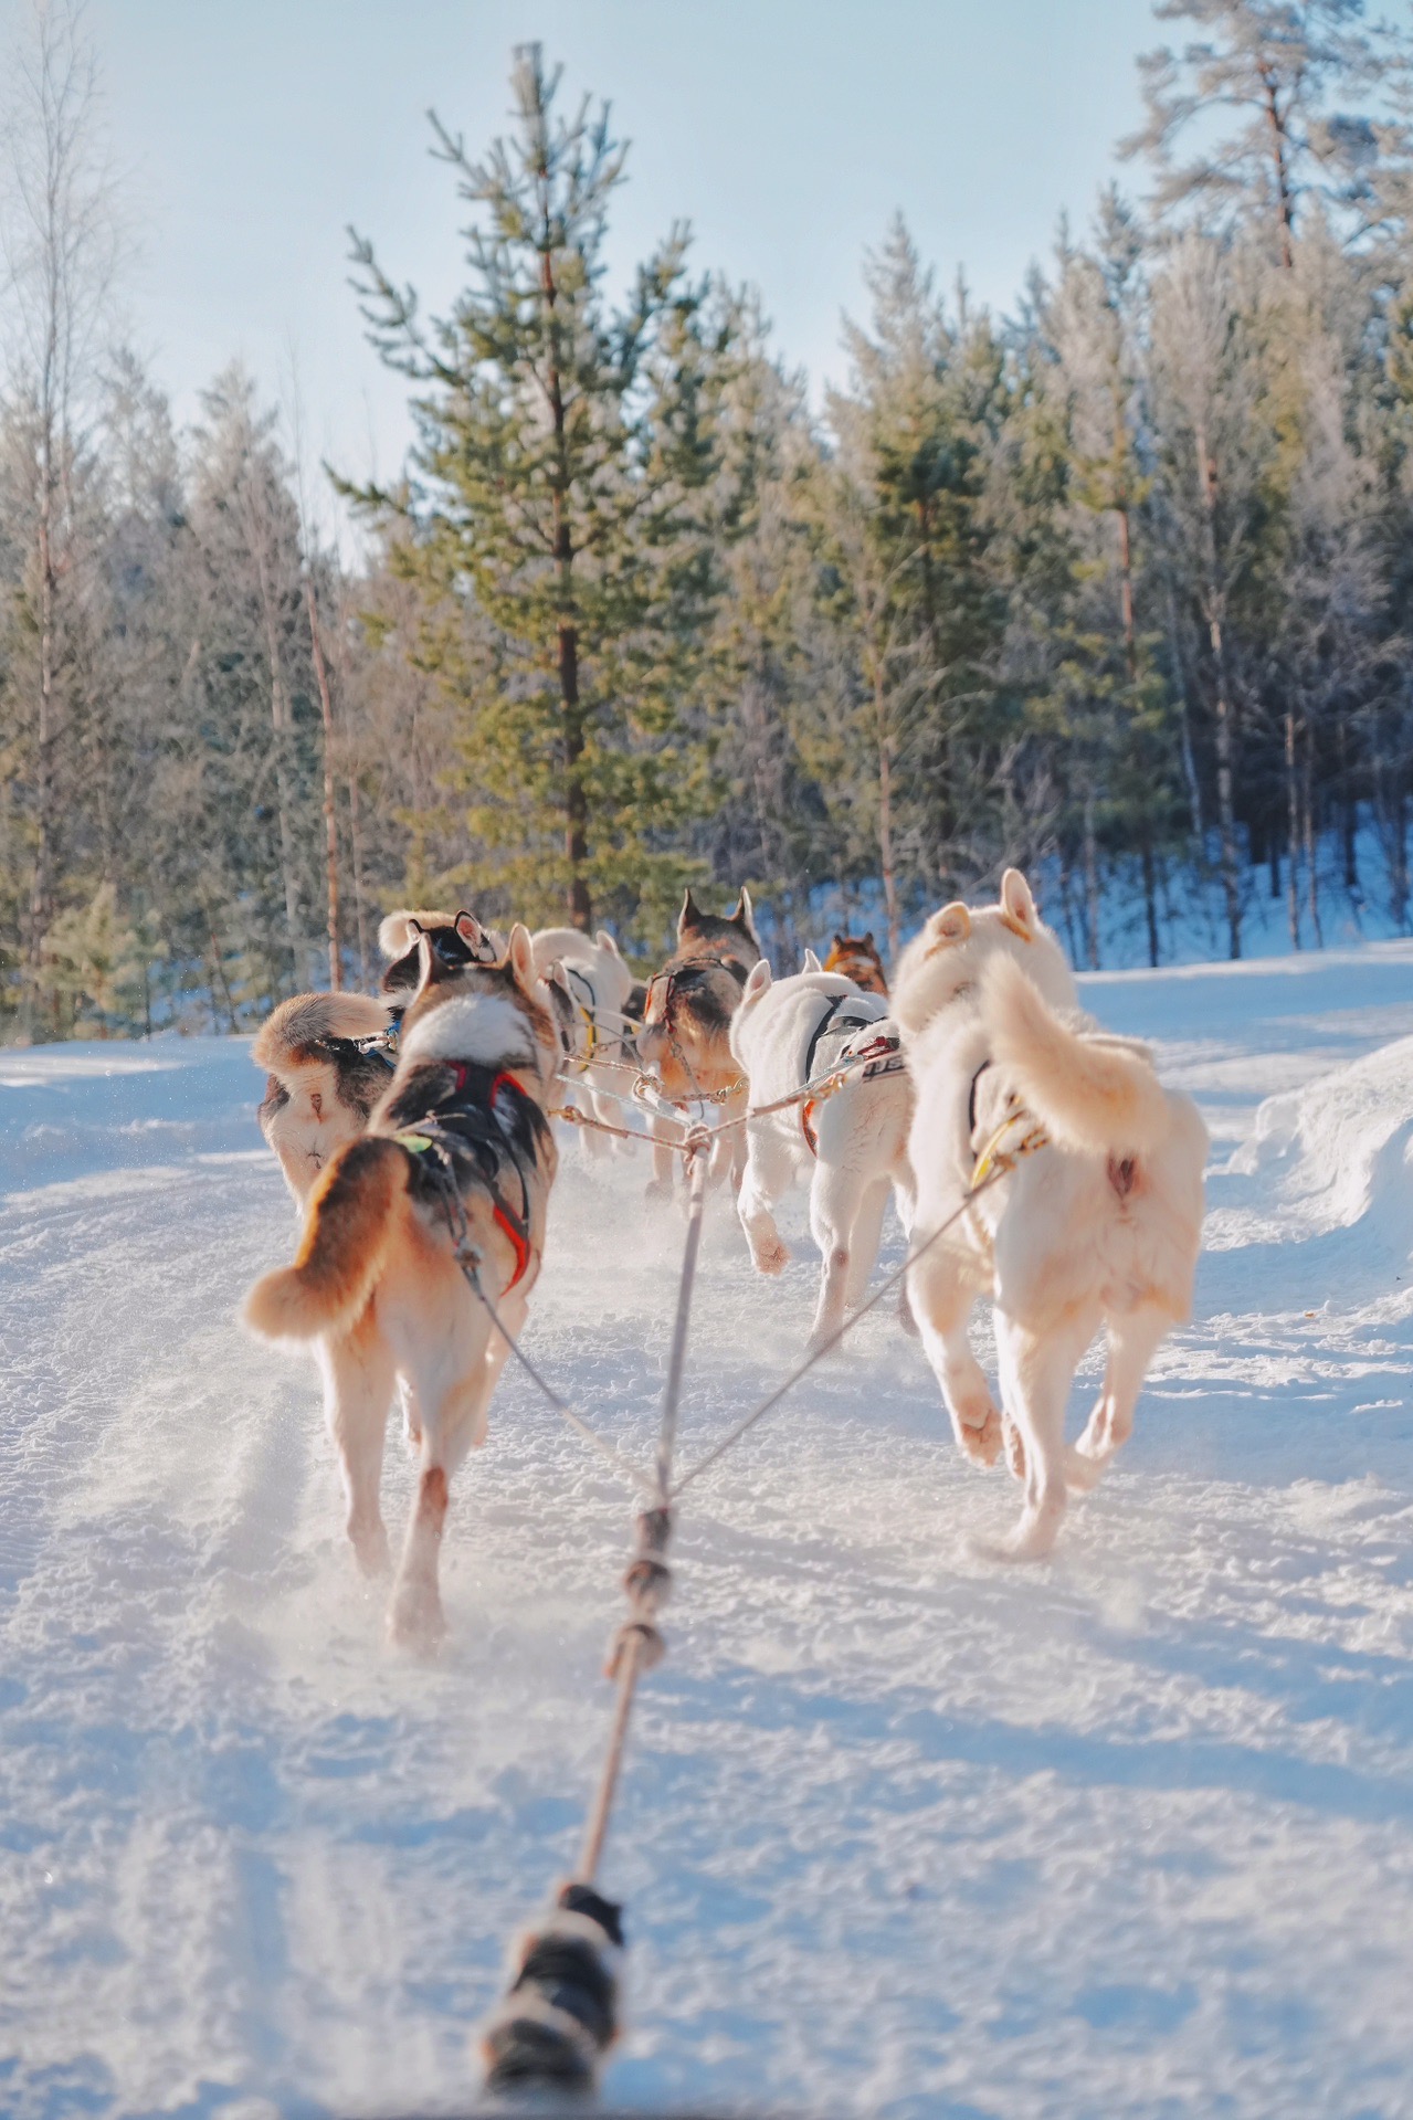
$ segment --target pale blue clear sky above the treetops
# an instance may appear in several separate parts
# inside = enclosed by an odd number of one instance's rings
[[[8,47],[25,0],[0,0]],[[1061,208],[1091,212],[1137,119],[1148,0],[91,0],[142,254],[129,316],[182,418],[242,354],[297,356],[306,437],[392,471],[405,386],[363,346],[344,225],[435,305],[458,282],[450,172],[424,110],[505,127],[511,45],[632,140],[615,259],[687,216],[700,265],[753,282],[779,348],[840,373],[859,257],[902,208],[950,280],[1008,307]],[[1124,180],[1137,184],[1135,172]]]

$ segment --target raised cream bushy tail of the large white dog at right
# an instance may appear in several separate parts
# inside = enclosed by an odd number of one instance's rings
[[[1144,1155],[1169,1130],[1163,1085],[1141,1052],[1071,1030],[1014,956],[982,984],[991,1056],[1061,1149]]]

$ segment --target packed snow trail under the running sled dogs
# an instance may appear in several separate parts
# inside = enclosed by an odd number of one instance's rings
[[[1014,1488],[887,1308],[690,1495],[605,1868],[622,2103],[1413,2114],[1413,1043],[1366,1058],[1413,946],[1084,988],[1214,1126],[1197,1319],[1044,1569],[965,1556]],[[295,1234],[244,1043],[0,1085],[0,2107],[465,2105],[592,1787],[628,1503],[507,1372],[446,1654],[390,1654],[314,1370],[233,1323]],[[645,1177],[566,1145],[528,1331],[643,1463]],[[687,1454],[796,1359],[802,1230],[760,1280],[715,1200]],[[395,1435],[386,1488],[397,1537]]]

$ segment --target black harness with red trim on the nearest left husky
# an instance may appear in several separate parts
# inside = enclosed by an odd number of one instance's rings
[[[392,1138],[414,1158],[422,1185],[448,1211],[460,1208],[463,1191],[475,1187],[490,1200],[496,1227],[516,1253],[516,1272],[505,1293],[524,1280],[535,1257],[530,1236],[530,1174],[550,1138],[550,1121],[507,1068],[473,1060],[437,1060],[418,1066],[399,1092],[388,1119],[399,1121]],[[518,1200],[507,1196],[513,1181]],[[465,1217],[460,1217],[465,1221]]]

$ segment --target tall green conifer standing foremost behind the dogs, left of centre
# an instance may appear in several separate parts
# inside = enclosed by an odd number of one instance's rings
[[[556,110],[558,70],[516,53],[516,129],[475,161],[435,117],[439,157],[477,218],[469,284],[422,324],[354,235],[363,314],[418,384],[403,490],[356,498],[399,515],[399,566],[465,632],[429,623],[422,655],[458,697],[467,884],[537,916],[645,897],[683,873],[673,829],[700,772],[692,702],[717,587],[711,528],[715,356],[704,286],[673,227],[628,301],[605,295],[624,148],[609,108]]]

